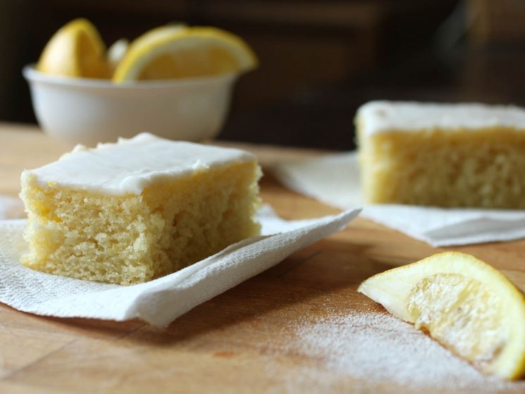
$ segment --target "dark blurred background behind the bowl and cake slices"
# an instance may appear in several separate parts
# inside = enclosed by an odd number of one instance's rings
[[[83,16],[106,44],[173,21],[252,45],[223,140],[353,147],[371,99],[525,105],[523,0],[0,0],[0,121],[35,122],[21,68]]]

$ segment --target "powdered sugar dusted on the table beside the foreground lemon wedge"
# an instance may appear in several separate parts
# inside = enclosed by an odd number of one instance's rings
[[[330,371],[335,378],[377,384],[393,384],[407,391],[460,391],[462,393],[525,392],[525,382],[507,382],[484,376],[455,357],[410,324],[381,312],[329,314],[295,326],[288,342],[290,352],[299,352],[321,364],[319,374]],[[316,369],[304,369],[306,381]],[[357,385],[359,386],[359,385]]]

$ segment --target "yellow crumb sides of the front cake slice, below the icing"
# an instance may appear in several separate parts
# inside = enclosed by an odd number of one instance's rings
[[[32,269],[129,285],[172,273],[259,234],[259,166],[195,171],[141,195],[99,195],[23,178]]]

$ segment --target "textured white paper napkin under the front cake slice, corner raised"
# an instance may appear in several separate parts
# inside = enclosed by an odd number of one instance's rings
[[[183,270],[132,286],[80,281],[33,271],[18,262],[25,250],[25,220],[0,221],[0,302],[24,312],[167,326],[181,314],[251,278],[290,254],[347,226],[358,209],[285,221],[271,208],[259,212],[260,237],[248,238]],[[273,235],[272,235],[273,234]]]

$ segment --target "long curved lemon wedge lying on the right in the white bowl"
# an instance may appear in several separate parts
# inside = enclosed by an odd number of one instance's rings
[[[256,66],[252,49],[224,30],[157,27],[132,42],[113,74],[113,82],[220,75]]]

